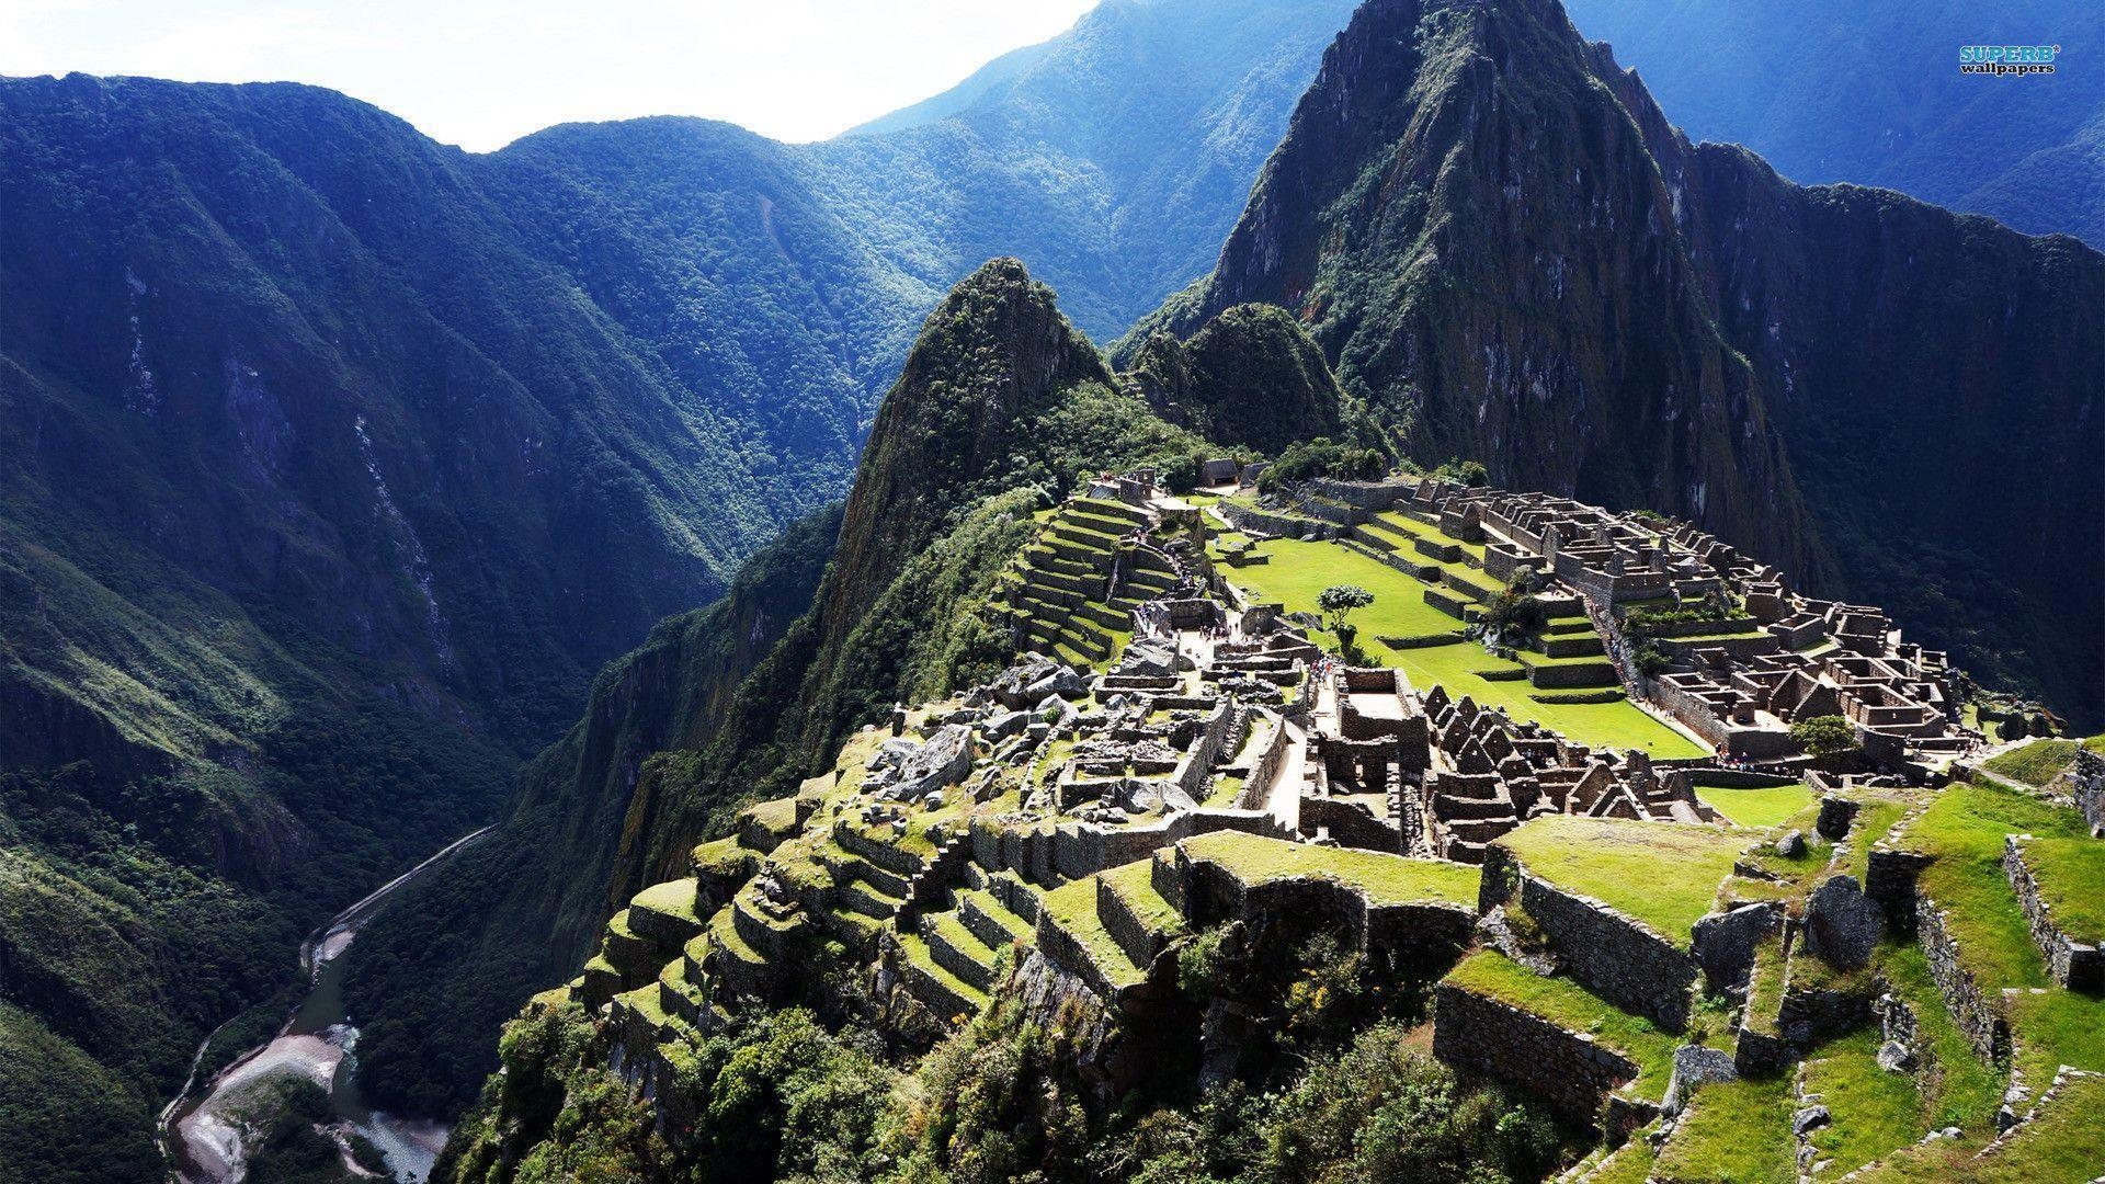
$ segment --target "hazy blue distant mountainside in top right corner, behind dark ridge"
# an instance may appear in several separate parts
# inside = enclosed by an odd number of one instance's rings
[[[1886,185],[2105,246],[2105,6],[2090,0],[1570,0],[1695,139],[1785,177]],[[1964,44],[2059,44],[2052,76],[1960,74]]]

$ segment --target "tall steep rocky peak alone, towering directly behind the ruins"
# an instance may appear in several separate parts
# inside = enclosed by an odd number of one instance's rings
[[[1791,474],[1673,234],[1652,143],[1671,133],[1648,116],[1598,82],[1553,2],[1368,4],[1202,312],[1301,312],[1408,451],[1684,512],[1802,560]]]

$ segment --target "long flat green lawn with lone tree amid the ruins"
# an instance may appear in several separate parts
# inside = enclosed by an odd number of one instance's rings
[[[1360,630],[1360,647],[1383,666],[1402,668],[1421,691],[1442,685],[1450,695],[1471,695],[1480,706],[1505,708],[1513,718],[1553,727],[1579,744],[1600,748],[1644,748],[1657,758],[1703,756],[1707,750],[1644,714],[1629,702],[1615,704],[1541,704],[1535,687],[1522,680],[1490,680],[1482,672],[1518,672],[1507,662],[1476,643],[1391,649],[1383,636],[1429,636],[1461,630],[1461,621],[1425,603],[1425,584],[1335,541],[1265,539],[1250,554],[1267,563],[1227,567],[1221,571],[1259,603],[1280,603],[1286,611],[1316,613],[1316,596],[1332,584],[1358,584],[1375,594],[1375,603],[1351,615]],[[1474,573],[1478,579],[1490,579]],[[1328,630],[1316,630],[1316,640],[1337,649]],[[1541,659],[1600,662],[1587,659]]]

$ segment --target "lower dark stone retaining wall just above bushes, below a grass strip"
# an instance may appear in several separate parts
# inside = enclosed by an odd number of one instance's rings
[[[1585,1032],[1446,984],[1434,992],[1434,1055],[1465,1079],[1497,1081],[1577,1123],[1593,1123],[1602,1102],[1638,1077],[1636,1062]]]

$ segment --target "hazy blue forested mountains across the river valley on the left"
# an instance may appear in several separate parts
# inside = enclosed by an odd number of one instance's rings
[[[0,1148],[149,1165],[303,925],[846,491],[960,276],[1109,333],[1204,272],[1347,11],[1118,0],[819,145],[0,80],[0,1055],[109,1070]]]

